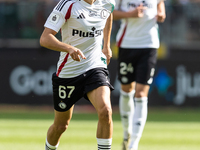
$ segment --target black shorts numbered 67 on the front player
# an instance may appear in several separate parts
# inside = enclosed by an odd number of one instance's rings
[[[74,78],[59,78],[52,75],[54,109],[60,112],[69,110],[82,97],[89,100],[87,93],[108,86],[114,90],[106,68],[95,68]]]

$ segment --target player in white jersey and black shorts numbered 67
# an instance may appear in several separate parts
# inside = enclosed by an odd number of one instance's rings
[[[61,0],[44,25],[41,46],[60,52],[57,71],[52,75],[55,118],[47,132],[46,150],[57,149],[71,120],[74,104],[82,97],[98,113],[98,150],[111,150],[110,92],[113,87],[107,65],[112,57],[110,34],[114,4],[114,0]],[[62,41],[55,37],[59,30]]]

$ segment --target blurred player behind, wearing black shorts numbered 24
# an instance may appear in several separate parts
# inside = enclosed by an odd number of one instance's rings
[[[147,102],[159,48],[157,22],[165,20],[163,0],[116,0],[119,109],[123,150],[137,150],[147,118]]]

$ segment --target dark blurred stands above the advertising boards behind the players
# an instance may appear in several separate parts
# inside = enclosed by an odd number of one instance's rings
[[[1,0],[0,38],[38,39],[46,18],[58,1]],[[166,45],[198,44],[200,1],[166,0],[165,4],[167,18],[160,26],[162,42]]]

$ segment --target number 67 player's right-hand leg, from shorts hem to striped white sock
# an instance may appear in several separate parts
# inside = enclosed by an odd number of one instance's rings
[[[110,88],[101,86],[87,94],[98,113],[97,144],[98,150],[111,150],[113,121],[110,101]]]

